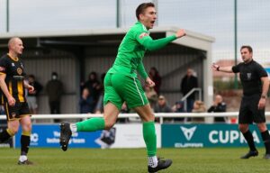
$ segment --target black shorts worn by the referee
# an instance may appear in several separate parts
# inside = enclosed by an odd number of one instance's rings
[[[265,109],[258,109],[260,95],[243,96],[238,123],[266,123]]]

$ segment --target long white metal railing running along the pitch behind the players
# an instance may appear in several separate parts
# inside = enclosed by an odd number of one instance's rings
[[[266,116],[270,116],[270,112],[266,112]],[[93,117],[103,117],[103,114],[34,114],[31,116],[33,120],[40,119],[87,119]],[[138,114],[119,114],[119,118],[136,118]],[[188,118],[188,117],[238,117],[238,112],[227,113],[155,113],[155,117],[160,118],[160,123],[163,123],[163,118]],[[0,115],[0,120],[5,120],[5,115]]]

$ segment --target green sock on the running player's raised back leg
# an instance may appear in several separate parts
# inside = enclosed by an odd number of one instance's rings
[[[90,118],[83,122],[76,123],[77,132],[95,132],[105,128],[105,121],[103,118]]]

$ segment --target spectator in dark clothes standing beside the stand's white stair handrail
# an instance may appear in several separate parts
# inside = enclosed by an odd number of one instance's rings
[[[193,76],[193,69],[188,68],[186,71],[186,75],[182,78],[181,93],[183,94],[183,96],[185,96],[194,87],[198,87],[198,79],[197,79],[197,77]],[[194,100],[195,100],[194,93],[191,96],[188,96],[186,98],[186,112],[187,113],[192,112]]]

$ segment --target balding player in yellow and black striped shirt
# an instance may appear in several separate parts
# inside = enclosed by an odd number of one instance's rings
[[[23,41],[14,37],[8,41],[9,52],[0,59],[0,87],[4,97],[4,111],[7,129],[0,133],[0,142],[8,140],[22,125],[21,156],[19,165],[32,164],[27,159],[31,136],[31,116],[24,90],[34,91],[34,87],[24,82],[24,67],[18,57],[23,53]]]

